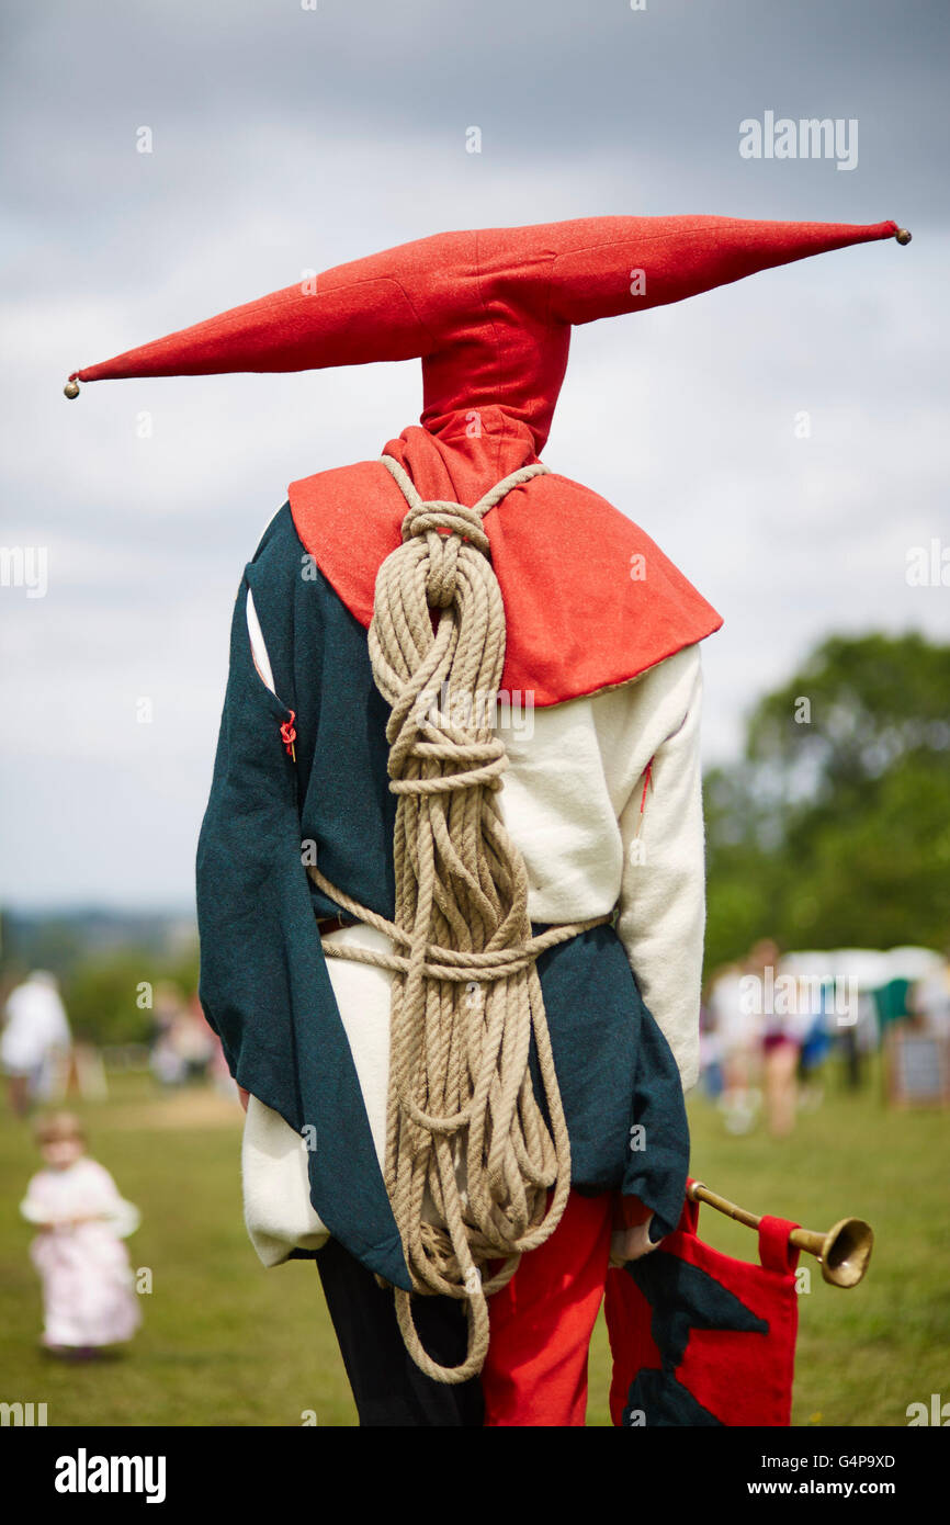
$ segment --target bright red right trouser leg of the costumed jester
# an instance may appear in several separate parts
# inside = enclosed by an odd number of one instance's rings
[[[564,1217],[488,1302],[485,1424],[583,1426],[587,1351],[604,1296],[613,1199],[572,1191]]]

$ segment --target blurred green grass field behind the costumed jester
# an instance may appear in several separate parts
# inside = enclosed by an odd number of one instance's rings
[[[906,1424],[907,1405],[950,1398],[950,1119],[889,1112],[877,1090],[845,1095],[828,1078],[796,1135],[729,1136],[701,1096],[691,1104],[692,1173],[752,1208],[825,1229],[854,1214],[877,1234],[871,1270],[849,1292],[813,1266],[799,1299],[794,1424]],[[264,1270],[241,1218],[236,1103],[204,1090],[156,1095],[113,1083],[79,1107],[91,1153],[143,1214],[130,1240],[152,1292],[136,1340],[111,1359],[61,1365],[38,1348],[40,1286],[18,1217],[37,1167],[29,1130],[0,1115],[0,1400],[46,1401],[49,1423],[355,1424],[311,1263]],[[703,1208],[708,1243],[755,1255],[755,1235]],[[610,1362],[602,1321],[590,1360],[587,1423],[605,1426]]]

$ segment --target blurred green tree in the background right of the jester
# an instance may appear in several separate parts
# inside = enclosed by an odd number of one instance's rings
[[[950,946],[950,647],[831,636],[706,779],[708,964],[782,947]]]

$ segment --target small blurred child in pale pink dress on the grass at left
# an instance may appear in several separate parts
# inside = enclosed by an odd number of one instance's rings
[[[131,1339],[142,1322],[122,1240],[139,1226],[104,1165],[85,1153],[78,1118],[61,1112],[37,1128],[44,1161],[20,1203],[40,1232],[30,1260],[43,1279],[43,1345],[91,1356]]]

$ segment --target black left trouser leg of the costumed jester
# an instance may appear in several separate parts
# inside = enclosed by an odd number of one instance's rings
[[[477,1377],[448,1386],[416,1366],[403,1344],[392,1289],[328,1240],[317,1250],[317,1270],[361,1426],[482,1426],[485,1405]],[[453,1298],[413,1298],[412,1310],[424,1348],[442,1366],[465,1356],[467,1321]]]

